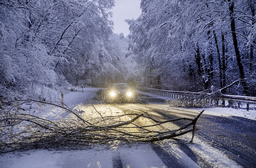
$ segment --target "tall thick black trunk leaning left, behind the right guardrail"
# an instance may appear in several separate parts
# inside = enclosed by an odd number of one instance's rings
[[[244,93],[247,95],[248,94],[248,86],[245,82],[245,75],[244,75],[244,67],[241,63],[241,57],[240,57],[240,52],[238,49],[238,43],[237,43],[237,35],[236,35],[236,26],[235,26],[235,19],[234,19],[234,2],[232,1],[229,5],[229,14],[230,14],[230,20],[231,20],[231,32],[232,32],[232,37],[233,37],[233,44],[236,52],[236,58],[237,58],[237,65],[239,68],[240,72],[240,78],[242,79],[242,87],[244,88]]]

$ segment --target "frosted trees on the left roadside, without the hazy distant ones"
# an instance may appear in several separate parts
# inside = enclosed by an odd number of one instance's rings
[[[114,0],[0,2],[0,96],[83,76],[112,34]]]

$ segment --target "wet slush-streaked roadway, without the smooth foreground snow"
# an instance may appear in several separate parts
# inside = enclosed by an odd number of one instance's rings
[[[135,103],[103,104],[118,112],[128,109],[144,110],[156,119],[164,120],[180,117],[195,118],[200,112],[168,107],[163,102],[162,99],[139,95]],[[101,106],[102,104],[98,103],[96,108]],[[175,124],[181,126],[185,121]],[[202,125],[203,128],[196,132],[193,143],[188,143],[191,134],[185,134],[176,140],[151,144],[166,167],[256,167],[255,120],[202,114],[197,124]],[[164,143],[172,145],[168,146]],[[177,151],[180,152],[177,154]],[[117,158],[119,158],[116,160],[117,165],[121,165],[120,157]]]

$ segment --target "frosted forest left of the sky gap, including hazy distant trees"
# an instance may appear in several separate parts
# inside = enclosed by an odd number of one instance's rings
[[[0,98],[134,78],[130,41],[112,31],[114,0],[1,0]],[[128,62],[129,64],[126,64]]]

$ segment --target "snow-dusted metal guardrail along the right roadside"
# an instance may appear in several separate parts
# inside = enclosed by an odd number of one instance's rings
[[[202,95],[202,94],[209,94],[210,93],[200,93],[200,92],[184,92],[184,91],[168,91],[168,90],[161,90],[161,89],[151,89],[151,88],[143,88],[143,87],[136,87],[137,90],[147,93],[152,93],[159,96],[164,96],[167,98],[178,99],[186,96],[188,94],[193,95]],[[242,108],[244,104],[246,104],[246,110],[249,111],[250,104],[256,104],[256,97],[251,96],[237,96],[237,95],[221,95],[219,100],[216,102],[216,105],[219,106],[221,104],[222,107],[237,107]],[[256,109],[255,107],[252,107]]]

